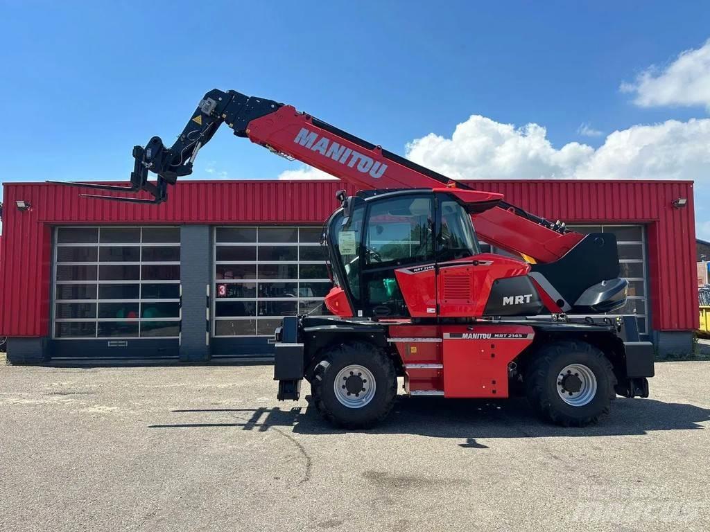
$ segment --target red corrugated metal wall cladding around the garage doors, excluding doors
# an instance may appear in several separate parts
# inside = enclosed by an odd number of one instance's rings
[[[546,218],[568,223],[648,223],[652,328],[697,328],[691,182],[479,181],[476,187]],[[84,199],[80,189],[46,183],[4,185],[0,239],[0,334],[48,334],[50,228],[77,223],[321,223],[342,182],[179,182],[159,206]],[[688,199],[684,209],[672,201]],[[18,211],[15,201],[32,208]],[[661,297],[664,294],[665,297]],[[668,297],[674,294],[674,297]]]

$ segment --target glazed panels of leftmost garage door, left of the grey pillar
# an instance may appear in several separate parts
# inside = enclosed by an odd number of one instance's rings
[[[57,228],[53,269],[55,340],[179,337],[179,228]]]

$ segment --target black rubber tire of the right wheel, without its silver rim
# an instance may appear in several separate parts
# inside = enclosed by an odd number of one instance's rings
[[[565,340],[540,346],[532,357],[525,372],[525,394],[538,416],[561,426],[583,427],[608,414],[611,399],[616,397],[616,377],[601,350],[586,342]],[[560,371],[571,364],[586,366],[596,378],[594,397],[581,406],[567,404],[558,392]]]

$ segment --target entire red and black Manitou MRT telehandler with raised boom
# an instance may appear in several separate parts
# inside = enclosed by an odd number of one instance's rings
[[[130,187],[92,187],[165,201],[222,123],[361,191],[338,192],[324,225],[332,316],[285,317],[275,332],[278,399],[299,399],[305,378],[327,419],[356,428],[388,414],[398,377],[413,396],[523,391],[564,426],[597,421],[616,394],[648,397],[652,346],[635,318],[593,317],[626,302],[614,235],[569,231],[293,106],[212,90],[170,148],[133,148]],[[477,235],[520,258],[481,253]]]

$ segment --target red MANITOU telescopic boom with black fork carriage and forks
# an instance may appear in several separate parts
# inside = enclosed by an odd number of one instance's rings
[[[297,159],[334,175],[358,189],[402,189],[452,187],[471,189],[467,184],[383,150],[381,146],[342,131],[293,106],[245,96],[239,92],[214,89],[204,95],[178,140],[166,148],[153,137],[145,148],[133,148],[135,165],[130,187],[87,185],[82,187],[124,192],[146,191],[153,199],[115,197],[120,201],[160,203],[168,194],[168,184],[192,172],[197,152],[226,123],[234,134],[246,137],[278,155]],[[158,174],[156,184],[148,182],[148,172]],[[97,196],[106,198],[107,196]],[[110,197],[110,196],[109,196]],[[523,253],[538,262],[552,262],[572,249],[582,235],[566,231],[564,225],[538,218],[505,202],[474,214],[477,233],[487,243],[514,253]]]

